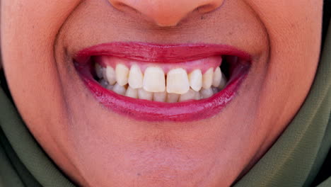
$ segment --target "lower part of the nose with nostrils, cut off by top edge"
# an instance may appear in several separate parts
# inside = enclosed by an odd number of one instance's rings
[[[176,26],[192,11],[207,13],[221,6],[224,0],[108,0],[120,11],[134,10],[158,26]]]

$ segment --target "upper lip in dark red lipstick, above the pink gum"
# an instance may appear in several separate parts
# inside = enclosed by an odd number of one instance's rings
[[[250,61],[247,52],[229,45],[171,44],[159,45],[145,42],[111,42],[88,47],[76,53],[76,62],[86,62],[91,56],[111,55],[140,62],[175,63],[198,60],[214,55],[231,55]]]

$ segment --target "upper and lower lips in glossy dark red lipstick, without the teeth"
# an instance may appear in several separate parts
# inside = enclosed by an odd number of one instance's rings
[[[121,96],[100,86],[93,79],[91,64],[88,64],[91,56],[98,55],[154,63],[185,62],[214,55],[231,55],[238,57],[240,62],[231,72],[231,79],[226,88],[214,96],[198,101],[161,103]],[[112,42],[95,45],[79,51],[74,57],[74,64],[81,79],[103,106],[115,113],[137,120],[177,122],[202,120],[220,113],[235,98],[241,83],[247,77],[250,61],[251,57],[248,53],[228,45],[156,45],[144,42]]]

